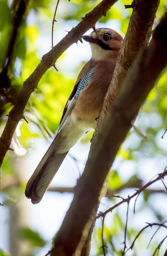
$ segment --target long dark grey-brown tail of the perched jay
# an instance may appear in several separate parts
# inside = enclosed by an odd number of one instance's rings
[[[33,204],[40,202],[68,153],[68,151],[65,153],[56,153],[56,151],[56,140],[54,139],[33,175],[27,182],[25,196],[31,198]]]

